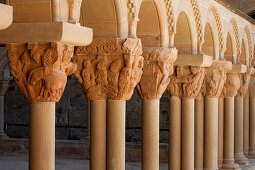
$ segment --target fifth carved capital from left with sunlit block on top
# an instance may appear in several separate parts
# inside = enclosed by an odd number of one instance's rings
[[[231,69],[232,63],[230,61],[213,61],[210,67],[205,68],[206,75],[201,93],[205,97],[209,98],[220,97],[224,87],[224,82],[227,78],[226,73]]]

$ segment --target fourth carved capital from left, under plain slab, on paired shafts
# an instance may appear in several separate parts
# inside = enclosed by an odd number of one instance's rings
[[[167,87],[168,96],[197,97],[203,85],[205,69],[201,66],[175,66]]]

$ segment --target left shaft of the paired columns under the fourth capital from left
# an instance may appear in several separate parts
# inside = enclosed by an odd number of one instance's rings
[[[169,170],[181,169],[181,99],[170,97]]]

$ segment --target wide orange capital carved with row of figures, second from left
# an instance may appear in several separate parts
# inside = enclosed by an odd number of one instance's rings
[[[142,76],[140,39],[94,39],[78,47],[75,76],[90,100],[129,100]]]

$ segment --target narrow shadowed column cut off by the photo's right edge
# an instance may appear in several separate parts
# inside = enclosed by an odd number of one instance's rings
[[[249,130],[249,158],[255,158],[255,77],[251,77],[251,82],[249,86],[249,95],[250,95],[250,130]]]

